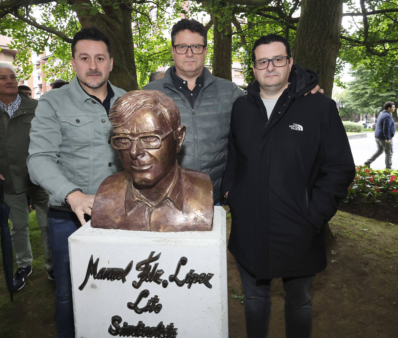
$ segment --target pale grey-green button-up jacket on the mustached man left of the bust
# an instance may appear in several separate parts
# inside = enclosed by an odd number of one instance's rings
[[[111,88],[112,106],[125,90]],[[32,182],[47,191],[51,205],[62,205],[75,188],[95,195],[106,177],[123,170],[111,146],[112,134],[105,108],[84,92],[77,77],[40,97],[27,166]]]

